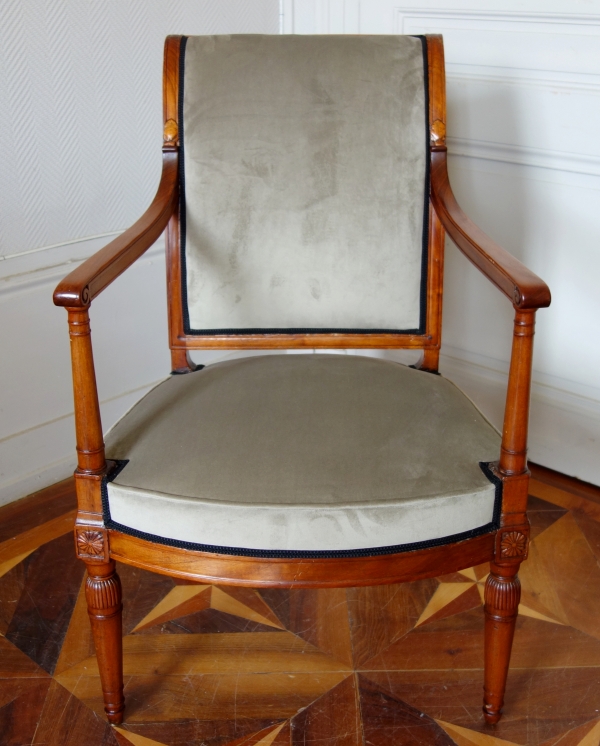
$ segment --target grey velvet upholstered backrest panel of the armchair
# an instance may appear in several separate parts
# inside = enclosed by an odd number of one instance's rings
[[[421,39],[197,36],[182,55],[186,331],[422,331]]]

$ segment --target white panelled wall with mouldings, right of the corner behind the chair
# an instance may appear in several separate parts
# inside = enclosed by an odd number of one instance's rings
[[[600,484],[600,0],[283,0],[286,33],[442,33],[459,202],[550,285],[530,458]],[[442,371],[501,423],[512,308],[449,242]]]

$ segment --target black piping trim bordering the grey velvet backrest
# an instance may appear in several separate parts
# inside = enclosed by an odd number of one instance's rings
[[[183,122],[183,96],[185,77],[185,49],[188,37],[182,36],[179,47],[179,231],[180,231],[180,265],[181,265],[181,305],[183,316],[183,330],[194,336],[250,336],[255,334],[412,334],[424,335],[427,331],[427,279],[429,259],[429,192],[430,192],[430,144],[429,144],[429,67],[427,57],[427,39],[425,36],[415,36],[421,40],[423,49],[423,77],[425,85],[425,190],[423,197],[423,237],[421,252],[421,290],[420,290],[420,319],[417,329],[340,329],[323,327],[318,329],[292,328],[244,328],[244,329],[192,329],[187,297],[187,269],[185,261],[186,246],[186,210],[185,210],[185,133]]]

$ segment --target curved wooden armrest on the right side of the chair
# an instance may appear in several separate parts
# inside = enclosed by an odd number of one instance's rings
[[[431,201],[450,238],[515,308],[550,305],[546,283],[486,236],[460,209],[448,180],[446,153],[441,150],[431,153]]]

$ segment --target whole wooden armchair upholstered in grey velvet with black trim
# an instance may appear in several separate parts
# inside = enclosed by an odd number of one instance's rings
[[[527,556],[535,313],[547,286],[458,207],[440,36],[168,37],[163,171],[71,272],[77,555],[105,710],[123,718],[115,561],[199,583],[344,587],[491,563],[488,723]],[[93,299],[166,229],[172,375],[106,435]],[[515,309],[504,428],[437,375],[444,234]],[[196,366],[191,350],[412,348]],[[436,375],[432,375],[436,374]]]

